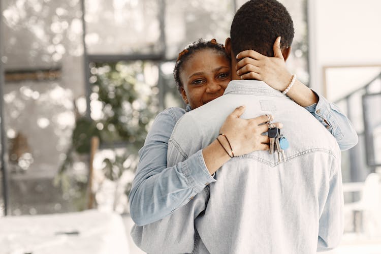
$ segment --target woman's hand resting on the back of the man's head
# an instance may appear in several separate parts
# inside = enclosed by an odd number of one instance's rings
[[[262,55],[254,50],[245,50],[237,55],[237,75],[241,79],[262,80],[272,88],[283,91],[290,84],[292,75],[287,70],[280,49],[280,37],[276,38],[274,57]]]

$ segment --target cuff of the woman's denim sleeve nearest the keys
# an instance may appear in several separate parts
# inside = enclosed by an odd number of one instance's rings
[[[192,189],[199,193],[211,182],[216,180],[210,175],[202,155],[202,150],[189,156],[182,167],[182,173]]]

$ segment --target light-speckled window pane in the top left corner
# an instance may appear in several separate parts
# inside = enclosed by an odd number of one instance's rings
[[[51,68],[61,66],[69,56],[82,55],[78,1],[4,2],[2,60],[6,70]]]

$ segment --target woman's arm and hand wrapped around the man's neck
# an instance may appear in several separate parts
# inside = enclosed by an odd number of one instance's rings
[[[291,82],[292,75],[285,66],[280,50],[280,37],[274,43],[274,57],[264,56],[253,50],[237,55],[241,59],[236,66],[242,79],[258,79],[272,88],[284,91]],[[333,103],[296,80],[287,96],[307,109],[335,137],[341,150],[354,147],[358,136],[351,121]]]

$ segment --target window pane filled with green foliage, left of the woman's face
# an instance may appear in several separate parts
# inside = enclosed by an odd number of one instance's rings
[[[101,142],[138,150],[158,112],[158,65],[150,61],[90,63],[90,109]]]

